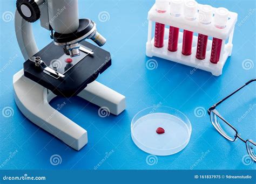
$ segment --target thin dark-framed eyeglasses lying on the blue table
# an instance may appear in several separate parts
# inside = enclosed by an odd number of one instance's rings
[[[216,110],[216,107],[227,100],[227,98],[231,97],[235,93],[237,93],[239,90],[250,84],[251,82],[256,81],[256,79],[252,79],[244,84],[244,86],[241,86],[237,90],[235,90],[230,95],[223,98],[223,100],[219,101],[218,103],[215,103],[208,109],[208,115],[210,115],[210,119],[212,122],[212,125],[214,128],[220,133],[221,136],[225,137],[227,140],[235,141],[237,138],[239,138],[241,141],[243,141],[246,144],[246,150],[248,152],[248,155],[253,159],[253,161],[256,161],[256,143],[251,139],[242,139],[240,135],[238,134],[237,129],[234,128],[230,123],[228,123]]]

